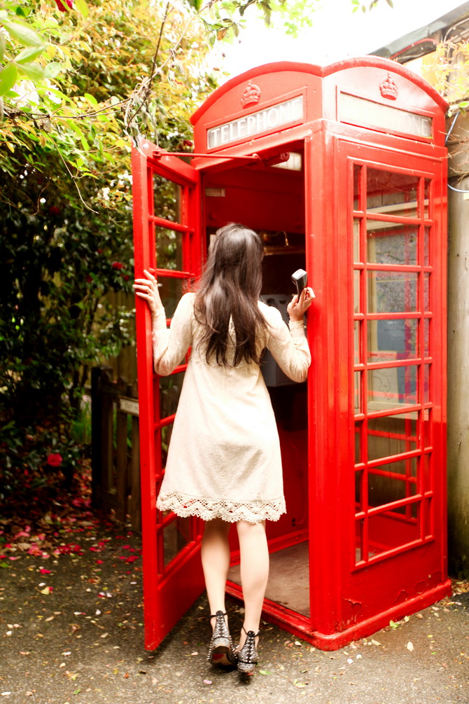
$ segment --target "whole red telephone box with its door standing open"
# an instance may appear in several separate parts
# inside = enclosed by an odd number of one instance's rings
[[[381,84],[389,80],[395,86],[392,102],[380,93]],[[245,96],[252,97],[252,83],[259,93],[258,102],[245,107]],[[378,106],[380,124],[373,127],[373,113],[366,116],[364,125],[356,125],[356,119],[342,115],[339,97],[344,92]],[[289,96],[302,96],[302,119],[296,114],[291,124],[278,130],[270,125],[244,141],[235,134],[231,143],[216,151],[208,149],[207,129],[211,126],[269,111]],[[394,113],[386,112],[388,107]],[[143,151],[139,156],[134,153],[134,188],[141,203],[136,205],[136,250],[137,243],[145,240],[146,228],[151,226],[148,223],[158,222],[174,230],[174,222],[153,217],[146,210],[146,168],[185,184],[191,194],[186,216],[188,220],[195,218],[198,225],[181,218],[179,232],[184,237],[198,227],[197,232],[204,232],[205,237],[200,234],[200,239],[193,239],[193,243],[197,241],[197,253],[191,249],[186,260],[200,262],[202,240],[229,220],[245,222],[257,230],[285,230],[293,233],[292,237],[304,236],[304,262],[316,293],[308,315],[312,356],[309,422],[307,435],[295,427],[279,425],[289,503],[286,517],[269,526],[268,536],[271,551],[309,539],[310,608],[306,615],[266,599],[264,615],[325,650],[371,634],[390,619],[423,608],[450,590],[445,522],[446,108],[445,101],[425,81],[385,59],[366,57],[326,68],[277,63],[226,82],[193,115],[193,167],[183,162],[177,166],[176,158],[165,156],[153,145],[146,150],[147,156],[142,156]],[[383,127],[382,115],[392,122],[396,110],[402,115],[415,113],[422,119],[430,118],[431,137],[406,134],[401,118],[394,127],[394,123]],[[269,168],[279,154],[288,151],[301,154],[302,172],[280,175],[279,170]],[[407,210],[377,212],[371,206],[367,210],[369,169],[388,173],[391,182],[408,184],[409,178],[415,180],[416,194],[403,186],[401,195],[394,198],[404,206],[407,203]],[[359,174],[359,181],[355,174]],[[203,189],[198,187],[199,179]],[[361,189],[355,205],[354,183]],[[374,189],[379,196],[379,188]],[[413,200],[416,210],[409,210]],[[404,238],[399,262],[367,256],[366,223],[370,220],[375,230],[378,227],[375,243],[379,242],[373,245],[378,249],[390,237],[406,232],[406,225],[412,229]],[[359,230],[358,240],[354,224]],[[385,224],[389,229],[379,232]],[[411,258],[415,237],[416,256]],[[358,257],[354,256],[357,241]],[[145,249],[148,245],[140,242],[138,246],[142,253],[137,258],[136,251],[137,270],[141,262],[152,261],[150,251]],[[186,272],[169,275],[187,277],[195,273],[193,269],[191,265]],[[373,284],[368,282],[371,272]],[[164,273],[160,272],[160,277]],[[393,276],[394,282],[402,277],[398,286],[400,307],[391,303],[387,303],[390,310],[378,308],[377,303],[367,307],[368,287],[386,286],[384,277],[392,282]],[[358,310],[354,310],[354,277],[359,279]],[[386,295],[383,301],[385,306]],[[149,320],[139,303],[139,353],[143,349],[143,361],[139,362],[140,403],[141,408],[154,408],[153,382],[148,372]],[[378,340],[378,329],[383,325],[401,326],[401,348],[386,351],[383,344],[375,344],[368,354],[368,335]],[[359,331],[357,351],[355,326]],[[375,375],[373,379],[381,374],[394,380],[390,389],[373,391],[375,406],[369,403],[371,374]],[[354,408],[356,375],[361,397],[358,414]],[[378,402],[381,406],[376,405]],[[158,430],[158,422],[161,425],[163,419],[142,420],[142,446],[150,445],[142,455],[144,491],[152,504],[155,483],[148,467],[156,466],[158,474],[158,458],[151,445],[155,444],[154,429]],[[171,420],[172,416],[164,422]],[[307,484],[301,472],[295,474],[297,462],[306,467]],[[302,513],[304,496],[308,502]],[[148,498],[143,499],[147,502],[143,526],[147,541],[145,598],[155,601],[157,591],[159,605],[146,606],[146,621],[152,622],[147,643],[155,644],[181,611],[174,602],[179,599],[179,582],[183,581],[178,560],[184,562],[186,553],[182,551],[168,566],[168,589],[164,591],[153,570],[159,548],[152,536],[158,526],[155,511],[148,508]],[[150,537],[145,537],[148,533]],[[199,538],[195,536],[195,541]],[[196,552],[188,548],[194,559],[184,572],[185,589],[188,584],[196,585],[192,596],[201,589]],[[233,540],[232,563],[238,559],[238,546]],[[242,596],[234,582],[229,583],[228,591]],[[186,605],[188,599],[184,608]],[[172,618],[162,625],[154,624],[166,608]]]

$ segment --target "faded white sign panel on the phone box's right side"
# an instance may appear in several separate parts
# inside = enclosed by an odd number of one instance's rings
[[[404,132],[416,137],[432,137],[432,118],[406,110],[373,103],[347,93],[340,94],[340,122],[373,125],[390,132]]]

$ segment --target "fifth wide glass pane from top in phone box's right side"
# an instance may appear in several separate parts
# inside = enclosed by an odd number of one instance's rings
[[[368,410],[413,406],[417,401],[417,368],[387,367],[368,372]]]

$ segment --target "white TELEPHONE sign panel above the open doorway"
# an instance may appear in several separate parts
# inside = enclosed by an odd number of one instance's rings
[[[238,120],[226,122],[224,125],[207,130],[207,149],[224,146],[238,139],[248,139],[254,134],[273,130],[290,122],[303,119],[303,96],[299,95],[271,108],[259,110]]]

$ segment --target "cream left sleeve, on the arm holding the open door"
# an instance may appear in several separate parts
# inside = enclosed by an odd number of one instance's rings
[[[185,294],[174,312],[169,329],[165,309],[152,315],[153,365],[162,377],[181,363],[192,344],[193,294]]]

